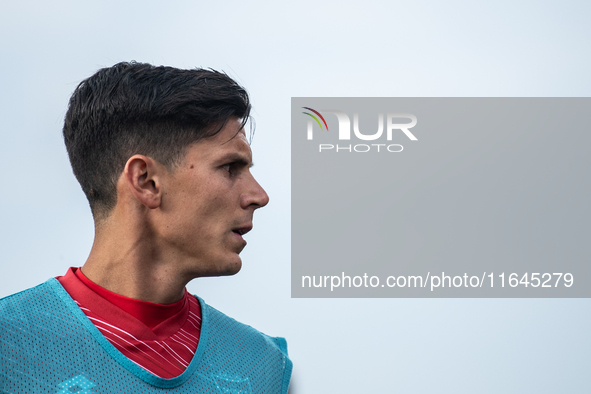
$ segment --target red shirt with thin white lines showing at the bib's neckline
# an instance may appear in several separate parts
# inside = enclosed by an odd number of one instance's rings
[[[201,332],[201,307],[186,290],[180,301],[161,305],[115,294],[79,268],[56,279],[109,342],[148,372],[170,379],[191,362]]]

